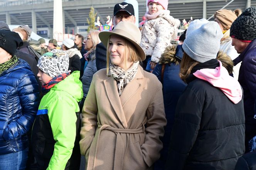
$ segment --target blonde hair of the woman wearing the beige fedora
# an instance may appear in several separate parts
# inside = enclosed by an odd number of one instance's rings
[[[124,62],[125,62],[125,67],[126,67],[126,61],[131,61],[133,63],[135,62],[138,62],[140,61],[141,62],[141,58],[140,58],[140,55],[138,53],[138,50],[136,49],[136,47],[130,42],[128,41],[127,39],[121,37],[121,36],[118,36],[120,38],[122,38],[123,40],[125,40],[125,44],[124,44],[124,47],[125,47],[125,51],[124,51]],[[108,45],[107,45],[107,74],[109,72],[109,55],[110,55],[110,51],[108,50],[109,49],[109,40],[110,40],[111,36],[109,36],[108,38]],[[125,68],[126,70],[127,68]]]

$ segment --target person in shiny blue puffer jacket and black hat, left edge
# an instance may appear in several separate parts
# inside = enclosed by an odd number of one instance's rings
[[[39,106],[35,75],[14,55],[22,43],[18,33],[0,30],[0,170],[25,169],[27,132]]]

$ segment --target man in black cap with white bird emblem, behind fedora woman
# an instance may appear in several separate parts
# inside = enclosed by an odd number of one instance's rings
[[[133,5],[131,5],[130,3],[126,3],[126,2],[117,3],[115,5],[113,17],[112,17],[112,22],[113,22],[114,28],[120,21],[129,21],[129,22],[135,23],[136,19],[134,16]],[[107,53],[107,50],[106,50],[105,46],[103,45],[103,43],[99,43],[96,46],[97,70],[100,70],[101,68],[106,68],[106,59],[107,59],[106,53]]]

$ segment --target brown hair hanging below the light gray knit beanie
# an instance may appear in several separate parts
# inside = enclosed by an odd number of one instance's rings
[[[197,65],[199,62],[195,61],[194,59],[190,58],[187,53],[183,53],[182,60],[180,62],[180,78],[184,81],[187,77],[189,77],[191,70],[195,65]]]

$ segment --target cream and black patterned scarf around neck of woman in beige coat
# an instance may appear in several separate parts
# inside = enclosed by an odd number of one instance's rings
[[[117,88],[118,88],[118,94],[119,96],[123,92],[123,86],[130,83],[133,78],[135,78],[135,75],[138,71],[138,65],[139,62],[133,63],[128,70],[124,70],[123,68],[114,65],[113,63],[110,63],[109,72],[112,77],[114,77],[117,80]]]

